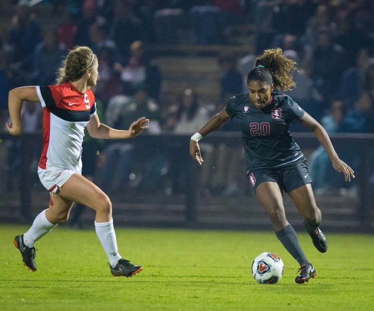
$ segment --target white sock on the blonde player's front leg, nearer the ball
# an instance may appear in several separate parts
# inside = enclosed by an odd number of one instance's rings
[[[101,245],[103,245],[104,251],[108,256],[109,263],[112,268],[121,259],[121,255],[118,254],[117,239],[115,238],[113,219],[108,222],[96,222],[95,221],[96,235],[99,238]]]

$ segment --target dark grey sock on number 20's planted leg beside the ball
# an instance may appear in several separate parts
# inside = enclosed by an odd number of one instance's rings
[[[303,263],[309,263],[301,249],[296,232],[290,224],[284,227],[281,231],[277,231],[275,235],[281,241],[288,253],[299,262],[300,266]]]

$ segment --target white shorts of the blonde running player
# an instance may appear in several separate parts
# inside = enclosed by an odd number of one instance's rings
[[[82,174],[82,172],[75,172],[73,170],[61,167],[53,167],[48,169],[37,168],[37,174],[39,175],[40,182],[52,195],[57,191],[57,186],[62,187],[64,183],[74,173]]]

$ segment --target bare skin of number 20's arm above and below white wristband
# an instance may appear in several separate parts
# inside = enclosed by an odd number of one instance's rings
[[[230,116],[227,114],[226,108],[224,108],[220,113],[212,117],[206,123],[206,125],[199,130],[200,135],[204,137],[207,134],[215,131],[217,128],[220,128],[228,119],[230,119]],[[204,160],[201,156],[199,143],[195,142],[192,139],[189,141],[189,154],[195,161],[197,161],[197,163],[199,163],[199,165],[203,164]]]

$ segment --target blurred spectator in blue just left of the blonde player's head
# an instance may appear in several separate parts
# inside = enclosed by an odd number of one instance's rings
[[[34,51],[33,72],[27,77],[29,85],[50,85],[56,80],[56,72],[67,51],[62,43],[58,43],[55,28],[45,28],[43,41]]]

